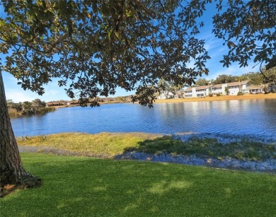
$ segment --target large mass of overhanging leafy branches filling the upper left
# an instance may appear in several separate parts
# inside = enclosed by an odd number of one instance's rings
[[[204,1],[1,2],[4,70],[24,89],[42,94],[43,84],[60,78],[81,105],[120,87],[151,106],[160,78],[178,86],[208,73],[204,40],[196,37]]]

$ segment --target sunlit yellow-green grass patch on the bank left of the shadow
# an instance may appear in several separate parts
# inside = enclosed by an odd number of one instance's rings
[[[113,157],[125,148],[137,147],[145,139],[155,139],[157,134],[143,133],[100,133],[100,134],[52,134],[18,138],[24,146],[57,148],[64,151],[76,151],[84,155]]]

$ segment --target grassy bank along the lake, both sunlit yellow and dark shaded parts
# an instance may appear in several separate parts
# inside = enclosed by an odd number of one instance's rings
[[[83,156],[113,158],[125,152],[151,154],[168,153],[173,156],[198,156],[204,158],[235,158],[244,160],[276,159],[276,143],[260,141],[229,141],[222,143],[216,138],[190,137],[186,141],[173,136],[144,133],[100,133],[100,134],[52,134],[18,138],[22,146],[34,146],[40,152],[54,149],[75,152]],[[56,152],[57,152],[56,151]]]

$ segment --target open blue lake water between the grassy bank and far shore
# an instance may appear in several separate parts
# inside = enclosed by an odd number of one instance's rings
[[[81,131],[181,134],[185,132],[276,138],[276,100],[230,100],[64,107],[46,115],[11,119],[16,136]]]

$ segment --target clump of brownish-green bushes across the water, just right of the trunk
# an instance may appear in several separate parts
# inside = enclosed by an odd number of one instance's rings
[[[45,112],[53,112],[53,107],[46,107],[46,102],[35,99],[32,102],[18,102],[7,100],[8,112],[10,115],[35,115]]]

